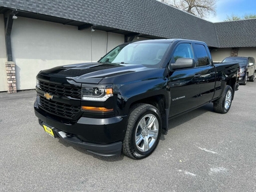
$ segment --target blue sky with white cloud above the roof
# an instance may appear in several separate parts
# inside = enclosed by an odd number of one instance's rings
[[[227,19],[227,15],[234,14],[243,17],[250,13],[256,15],[256,0],[217,0],[216,16],[210,15],[205,20],[222,22]]]

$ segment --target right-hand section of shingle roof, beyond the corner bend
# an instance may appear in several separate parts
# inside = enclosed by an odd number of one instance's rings
[[[219,47],[256,47],[256,19],[215,23]]]

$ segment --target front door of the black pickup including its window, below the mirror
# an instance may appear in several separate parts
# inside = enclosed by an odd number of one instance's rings
[[[180,43],[173,51],[170,63],[175,63],[178,58],[192,58],[192,45],[188,42]],[[180,68],[170,72],[169,85],[171,95],[170,116],[178,115],[199,105],[200,95],[200,72],[199,68]]]

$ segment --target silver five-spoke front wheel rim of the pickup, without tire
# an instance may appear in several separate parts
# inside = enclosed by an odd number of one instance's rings
[[[135,143],[140,152],[147,152],[157,141],[159,122],[153,114],[141,118],[135,131]]]

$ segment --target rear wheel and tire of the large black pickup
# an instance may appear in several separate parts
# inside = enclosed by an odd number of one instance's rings
[[[217,113],[227,113],[232,104],[233,90],[231,86],[227,85],[220,99],[213,103],[214,111]]]

